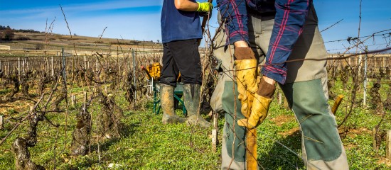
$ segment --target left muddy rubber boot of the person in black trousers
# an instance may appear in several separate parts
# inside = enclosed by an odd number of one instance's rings
[[[161,118],[161,122],[164,125],[168,123],[184,123],[186,118],[181,118],[176,115],[173,108],[173,89],[175,87],[166,84],[160,84],[160,87],[160,101],[161,108],[163,109],[163,118]]]

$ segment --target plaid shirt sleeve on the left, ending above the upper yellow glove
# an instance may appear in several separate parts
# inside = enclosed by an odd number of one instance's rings
[[[228,35],[227,44],[240,40],[249,43],[246,1],[218,0],[217,3]]]

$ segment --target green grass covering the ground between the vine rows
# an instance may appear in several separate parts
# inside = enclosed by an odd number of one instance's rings
[[[338,86],[339,84],[333,90],[337,91],[337,94],[343,92],[347,98],[349,92],[338,91],[341,89]],[[75,94],[81,90],[71,89]],[[152,113],[151,99],[144,98],[140,101],[140,107],[131,111],[127,109],[128,103],[121,91],[115,96],[117,104],[124,110],[121,137],[104,139],[97,136],[96,125],[99,122],[96,117],[102,106],[92,103],[89,108],[92,113],[90,151],[83,157],[70,156],[75,116],[78,113],[77,108],[81,106],[81,103],[77,103],[75,108],[68,109],[68,115],[47,113],[47,118],[54,124],[59,124],[60,128],[53,127],[48,121],[39,123],[38,143],[29,148],[33,162],[45,166],[46,169],[107,169],[109,165],[112,165],[113,169],[220,169],[221,145],[218,145],[217,152],[212,151],[211,129],[192,129],[184,124],[163,125],[161,113]],[[32,106],[33,103],[26,101],[24,105]],[[346,114],[346,107],[348,103],[344,101],[336,115],[338,123]],[[26,113],[26,108],[18,111],[10,108],[14,110],[6,113],[6,119]],[[181,115],[181,110],[176,112]],[[346,122],[350,131],[343,138],[343,144],[350,169],[390,169],[390,165],[379,163],[379,160],[385,157],[385,142],[377,153],[372,148],[370,130],[379,121],[380,117],[371,113],[368,108],[357,107]],[[220,115],[220,141],[223,123],[223,115]],[[383,124],[385,125],[382,128],[390,129],[389,119]],[[0,137],[3,138],[13,127],[14,124],[6,123],[4,129],[0,130]],[[305,169],[301,160],[301,135],[299,131],[295,131],[298,127],[294,113],[286,111],[277,104],[277,99],[274,99],[269,117],[257,130],[257,159],[264,169]],[[0,145],[0,169],[15,169],[11,144],[16,137],[23,137],[27,128],[27,124],[23,123]],[[367,130],[360,131],[363,128]]]

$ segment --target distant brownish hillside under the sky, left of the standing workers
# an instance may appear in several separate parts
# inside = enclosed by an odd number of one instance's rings
[[[161,43],[152,41],[60,35],[36,30],[14,30],[9,26],[0,26],[0,33],[4,33],[5,30],[13,30],[14,37],[8,41],[1,40],[0,45],[8,45],[11,50],[61,50],[61,47],[65,50],[99,50],[102,52],[117,50],[129,52],[132,48],[144,51],[161,50]]]

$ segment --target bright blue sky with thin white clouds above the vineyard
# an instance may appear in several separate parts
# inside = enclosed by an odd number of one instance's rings
[[[200,0],[205,1],[205,0]],[[44,31],[46,22],[54,21],[53,33],[69,35],[63,7],[70,30],[77,35],[98,37],[107,27],[104,38],[129,40],[161,40],[160,15],[162,0],[52,0],[9,1],[0,0],[0,25],[15,29]],[[330,52],[344,51],[347,41],[328,42],[358,36],[360,0],[314,0],[318,13],[319,29],[326,48]],[[215,9],[216,10],[216,9]],[[216,11],[210,21],[213,32],[218,26]],[[360,35],[372,35],[380,30],[391,29],[391,0],[363,0]],[[390,33],[388,30],[384,33]],[[381,49],[390,38],[377,36],[368,40],[371,50]]]

